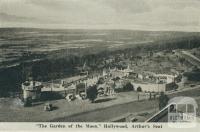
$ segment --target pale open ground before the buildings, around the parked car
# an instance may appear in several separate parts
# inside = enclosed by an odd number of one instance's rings
[[[43,110],[45,102],[35,104],[33,107],[24,108],[23,106],[16,104],[16,99],[1,98],[0,100],[0,121],[50,121],[55,118],[101,109],[111,105],[132,102],[137,100],[137,93],[119,93],[116,97],[108,97],[102,102],[99,101],[99,103],[90,103],[88,100],[68,102],[65,99],[48,101],[55,106],[55,110],[51,112],[45,112]]]

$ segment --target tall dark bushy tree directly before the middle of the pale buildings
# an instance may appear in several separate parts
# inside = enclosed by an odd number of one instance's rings
[[[94,103],[94,100],[97,98],[98,90],[97,86],[91,86],[87,89],[87,98]]]

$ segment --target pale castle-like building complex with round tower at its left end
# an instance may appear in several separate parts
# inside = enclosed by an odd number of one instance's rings
[[[135,72],[129,66],[126,69],[107,69],[100,75],[78,75],[54,82],[25,82],[22,84],[24,99],[40,98],[42,92],[57,92],[64,97],[87,96],[89,87],[97,86],[98,96],[114,95],[116,89],[122,89],[125,83],[130,82],[134,90],[142,92],[165,92],[173,90],[177,75],[156,74],[152,72]],[[99,80],[103,82],[99,82]],[[68,97],[68,96],[67,96]]]

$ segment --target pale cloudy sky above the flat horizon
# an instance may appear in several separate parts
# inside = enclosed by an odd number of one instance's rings
[[[200,31],[200,0],[0,0],[0,27]]]

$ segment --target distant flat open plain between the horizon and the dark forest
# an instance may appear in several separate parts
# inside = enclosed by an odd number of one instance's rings
[[[46,57],[96,54],[143,44],[179,43],[199,33],[132,30],[50,30],[0,28],[0,67],[39,61]],[[197,40],[191,40],[197,41]],[[60,54],[62,53],[62,54]],[[59,56],[58,56],[59,54]]]

